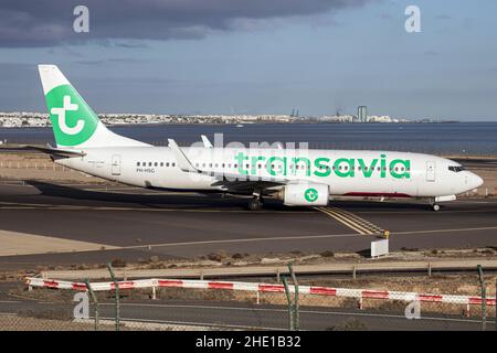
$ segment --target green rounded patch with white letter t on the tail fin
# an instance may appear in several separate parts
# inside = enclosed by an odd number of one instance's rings
[[[45,99],[57,145],[77,146],[95,132],[98,118],[72,86],[53,88]]]

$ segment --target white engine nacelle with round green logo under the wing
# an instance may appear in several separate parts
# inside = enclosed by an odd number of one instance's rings
[[[279,193],[279,199],[287,206],[326,206],[329,186],[317,183],[287,184]]]

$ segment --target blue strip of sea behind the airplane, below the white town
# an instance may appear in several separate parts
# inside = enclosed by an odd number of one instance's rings
[[[411,151],[451,156],[497,156],[496,122],[451,124],[244,124],[236,125],[123,125],[113,131],[156,146],[173,138],[180,146],[213,140],[222,133],[224,146],[241,142],[307,142],[309,148]],[[9,143],[54,143],[52,129],[0,128]],[[297,145],[298,146],[298,145]]]

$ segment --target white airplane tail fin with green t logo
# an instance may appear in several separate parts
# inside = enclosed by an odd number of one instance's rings
[[[38,65],[57,147],[149,146],[108,130],[55,65]]]

